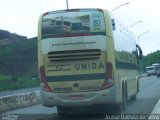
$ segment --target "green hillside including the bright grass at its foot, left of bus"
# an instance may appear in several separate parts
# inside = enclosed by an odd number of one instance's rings
[[[0,83],[0,91],[39,86],[37,38],[0,45]]]

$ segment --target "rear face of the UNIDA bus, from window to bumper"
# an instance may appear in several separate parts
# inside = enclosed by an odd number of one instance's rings
[[[114,81],[112,64],[107,62],[103,11],[46,13],[41,27],[43,64],[39,71],[44,105],[105,104],[101,96],[113,102],[106,92]]]

